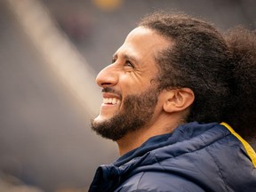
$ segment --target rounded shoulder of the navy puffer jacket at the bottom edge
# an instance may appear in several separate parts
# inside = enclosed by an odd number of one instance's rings
[[[125,180],[115,191],[204,192],[202,188],[192,181],[169,172],[137,173]]]

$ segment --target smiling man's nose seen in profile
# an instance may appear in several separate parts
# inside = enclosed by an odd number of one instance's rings
[[[108,65],[106,68],[103,68],[96,77],[96,83],[100,87],[115,86],[117,82],[118,75],[114,64]]]

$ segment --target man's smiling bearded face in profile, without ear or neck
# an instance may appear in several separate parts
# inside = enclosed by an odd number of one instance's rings
[[[114,54],[113,62],[96,78],[102,87],[100,115],[92,130],[102,137],[119,140],[138,130],[154,116],[157,107],[156,55],[167,40],[148,28],[135,28]]]

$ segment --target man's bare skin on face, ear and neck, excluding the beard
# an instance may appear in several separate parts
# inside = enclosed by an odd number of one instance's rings
[[[156,88],[159,69],[155,58],[158,52],[170,45],[170,41],[151,29],[139,27],[132,30],[114,54],[113,63],[103,68],[96,78],[101,88],[111,88],[115,92],[102,92],[105,103],[101,104],[100,115],[94,119],[94,123],[108,121],[123,111],[123,101],[127,96],[139,95],[152,86]],[[150,137],[172,132],[184,123],[184,116],[188,114],[194,97],[188,88],[159,92],[154,114],[148,123],[116,140],[120,155],[140,147]],[[106,102],[110,98],[115,98],[114,103]]]

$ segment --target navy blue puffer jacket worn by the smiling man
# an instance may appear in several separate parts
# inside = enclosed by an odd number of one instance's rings
[[[101,165],[89,191],[255,192],[246,149],[224,125],[184,124]]]

